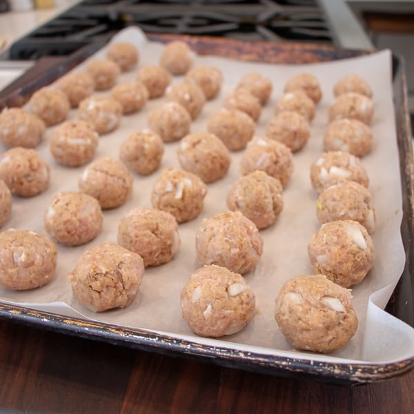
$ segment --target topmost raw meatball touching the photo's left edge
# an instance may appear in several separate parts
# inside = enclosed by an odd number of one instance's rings
[[[9,147],[37,147],[45,132],[45,123],[21,108],[4,108],[0,113],[0,141]]]

